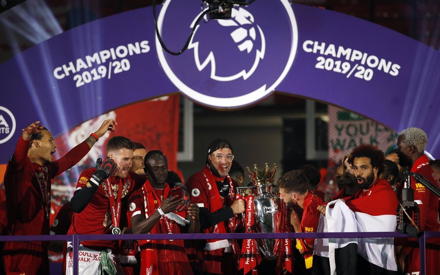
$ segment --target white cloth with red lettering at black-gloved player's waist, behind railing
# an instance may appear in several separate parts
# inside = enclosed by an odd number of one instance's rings
[[[114,264],[117,274],[123,274],[122,267],[117,255],[107,249],[108,257]],[[78,251],[78,274],[100,275],[101,274],[101,251],[93,250],[80,245]],[[67,247],[66,275],[73,275],[73,251],[72,246]]]

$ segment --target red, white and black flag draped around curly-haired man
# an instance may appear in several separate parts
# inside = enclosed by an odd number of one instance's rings
[[[318,232],[394,232],[396,194],[386,180],[330,202]],[[312,274],[397,274],[393,238],[316,239]]]

